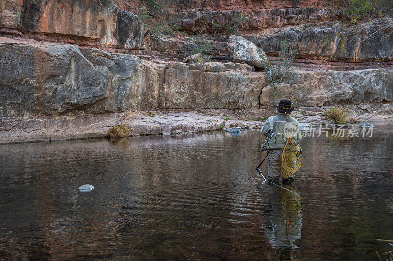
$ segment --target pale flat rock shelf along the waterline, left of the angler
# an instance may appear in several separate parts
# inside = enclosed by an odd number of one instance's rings
[[[225,120],[221,116],[197,112],[154,113],[156,114],[152,115],[153,117],[144,111],[137,111],[72,117],[3,118],[4,120],[0,121],[0,143],[105,138],[109,128],[124,119],[131,130],[131,136],[204,132],[235,126],[262,126],[261,121]]]

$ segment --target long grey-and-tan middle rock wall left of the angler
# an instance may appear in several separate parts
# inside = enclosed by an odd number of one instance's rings
[[[240,64],[146,66],[134,55],[8,38],[0,63],[1,117],[258,108],[266,85]]]

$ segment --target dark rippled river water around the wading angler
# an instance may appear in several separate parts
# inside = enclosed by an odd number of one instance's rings
[[[0,145],[0,260],[376,260],[392,131],[303,139],[296,194],[261,183],[254,130]]]

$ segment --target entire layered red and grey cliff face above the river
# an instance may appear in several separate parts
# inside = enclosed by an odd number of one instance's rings
[[[287,40],[296,60],[273,85],[251,42],[180,34],[150,41],[134,5],[0,0],[0,143],[102,137],[121,122],[135,135],[255,127],[262,122],[228,119],[269,116],[282,97],[304,107],[308,121],[336,104],[351,104],[357,119],[393,118],[390,20],[345,27],[322,0],[179,2],[185,34],[241,18],[238,34],[259,37],[270,60]],[[195,45],[211,48],[212,61],[185,63]]]

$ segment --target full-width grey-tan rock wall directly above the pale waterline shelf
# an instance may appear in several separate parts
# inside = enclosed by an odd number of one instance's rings
[[[0,38],[2,117],[136,110],[252,109],[281,96],[297,106],[387,103],[393,71],[293,71],[268,85],[233,63],[144,62],[135,55]],[[17,70],[15,70],[17,69]]]

